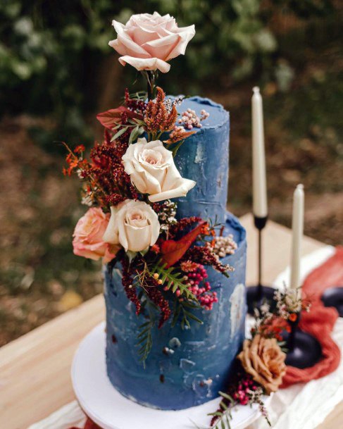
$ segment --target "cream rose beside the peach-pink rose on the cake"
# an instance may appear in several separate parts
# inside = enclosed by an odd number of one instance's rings
[[[142,251],[156,243],[160,233],[158,216],[144,201],[125,199],[111,207],[111,218],[102,239],[121,244],[125,251]]]

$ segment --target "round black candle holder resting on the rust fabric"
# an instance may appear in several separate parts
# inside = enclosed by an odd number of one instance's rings
[[[291,331],[283,335],[286,341],[286,365],[304,369],[315,365],[322,357],[322,348],[312,335],[299,329],[300,313],[294,313],[297,318],[288,321]]]

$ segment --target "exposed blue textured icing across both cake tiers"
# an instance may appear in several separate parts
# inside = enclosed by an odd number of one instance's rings
[[[152,332],[153,346],[145,368],[137,356],[137,330],[144,321],[127,300],[117,263],[106,271],[106,364],[111,383],[126,397],[160,409],[185,409],[218,397],[230,379],[233,361],[244,339],[246,236],[237,218],[225,210],[227,200],[229,114],[219,104],[192,97],[182,102],[209,118],[189,137],[175,157],[183,177],[197,181],[187,197],[177,200],[177,217],[200,216],[225,223],[224,235],[237,242],[235,254],[222,262],[235,268],[230,278],[208,268],[208,281],[218,294],[211,311],[196,310],[204,322],[190,330],[167,321]]]

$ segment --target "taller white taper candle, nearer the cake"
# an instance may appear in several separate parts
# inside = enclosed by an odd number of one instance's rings
[[[251,98],[252,113],[252,174],[253,174],[253,213],[258,218],[268,215],[266,154],[264,150],[263,104],[260,89],[253,88]]]

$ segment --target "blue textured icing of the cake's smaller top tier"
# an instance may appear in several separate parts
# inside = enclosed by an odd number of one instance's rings
[[[229,173],[230,116],[220,104],[210,99],[191,97],[182,101],[177,111],[187,108],[200,116],[206,110],[210,116],[196,134],[182,144],[175,163],[183,178],[195,180],[197,185],[186,197],[177,199],[177,217],[199,216],[204,220],[225,222],[227,182]]]

